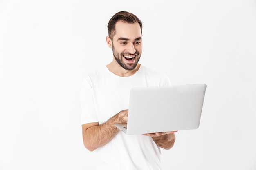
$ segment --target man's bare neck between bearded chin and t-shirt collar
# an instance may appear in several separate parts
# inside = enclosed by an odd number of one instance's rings
[[[140,64],[138,63],[135,69],[133,70],[126,70],[123,67],[121,67],[119,64],[112,61],[110,64],[107,65],[107,68],[114,73],[115,75],[118,75],[120,77],[129,77],[131,75],[134,75],[136,71],[139,70]]]

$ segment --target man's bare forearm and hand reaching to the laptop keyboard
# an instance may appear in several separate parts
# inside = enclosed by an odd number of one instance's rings
[[[98,122],[88,123],[82,125],[83,144],[85,148],[93,151],[105,144],[107,144],[119,130],[114,124],[127,122],[128,110],[123,110],[103,124]]]

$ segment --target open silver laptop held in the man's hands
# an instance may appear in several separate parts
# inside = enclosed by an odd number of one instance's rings
[[[115,124],[128,135],[197,129],[206,84],[132,88],[128,120]]]

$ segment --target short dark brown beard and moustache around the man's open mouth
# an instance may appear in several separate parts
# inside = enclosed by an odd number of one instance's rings
[[[140,56],[141,56],[141,53],[139,53],[139,52],[135,52],[134,54],[130,54],[130,53],[125,53],[125,52],[122,52],[121,54],[119,54],[119,53],[117,53],[117,51],[115,50],[115,47],[113,46],[112,47],[112,51],[113,51],[113,55],[114,55],[114,58],[115,58],[115,60],[117,61],[117,63],[121,66],[121,67],[123,67],[124,69],[126,69],[126,70],[133,70],[133,69],[135,69],[136,68],[136,66],[137,66],[137,64],[138,64],[138,62],[139,62],[139,59],[140,59]],[[135,62],[134,63],[125,63],[124,61],[123,61],[123,56],[124,55],[136,55],[136,57],[135,57]]]

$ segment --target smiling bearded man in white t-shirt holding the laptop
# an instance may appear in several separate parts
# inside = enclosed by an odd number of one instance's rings
[[[116,13],[108,23],[108,34],[112,62],[82,81],[83,143],[94,151],[97,170],[160,170],[159,147],[170,149],[175,142],[174,132],[126,135],[114,124],[127,122],[131,88],[166,86],[170,80],[138,63],[142,22],[135,15]]]

